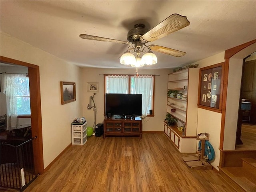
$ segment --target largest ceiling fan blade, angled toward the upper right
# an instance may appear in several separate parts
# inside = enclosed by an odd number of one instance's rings
[[[140,40],[144,43],[152,42],[162,37],[165,37],[170,33],[178,31],[188,26],[189,24],[190,22],[188,21],[186,16],[172,14],[171,16],[160,22],[160,24],[148,31],[146,34],[141,36]]]

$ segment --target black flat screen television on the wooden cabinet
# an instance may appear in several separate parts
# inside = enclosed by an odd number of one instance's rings
[[[142,94],[106,93],[105,114],[141,116]]]

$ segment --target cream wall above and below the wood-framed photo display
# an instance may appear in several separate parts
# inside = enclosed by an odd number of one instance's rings
[[[199,64],[198,68],[202,68],[224,61],[224,52],[221,52],[198,62],[194,62],[193,64]],[[207,132],[210,134],[209,142],[215,151],[215,160],[212,161],[211,164],[218,170],[217,166],[220,163],[220,150],[218,149],[220,147],[221,113],[198,108],[197,121],[197,133]]]

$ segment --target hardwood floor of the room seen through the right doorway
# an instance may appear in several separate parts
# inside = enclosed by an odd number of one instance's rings
[[[241,129],[242,145],[236,145],[236,150],[256,150],[256,125],[243,123]]]

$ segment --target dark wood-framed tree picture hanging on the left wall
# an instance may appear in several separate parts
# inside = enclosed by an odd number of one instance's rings
[[[76,83],[75,82],[60,82],[60,97],[61,104],[67,104],[76,100]]]

